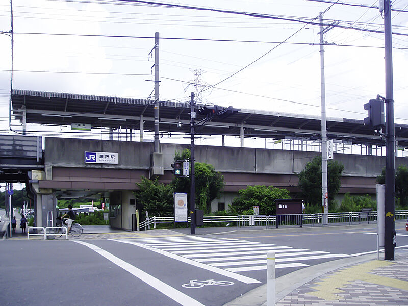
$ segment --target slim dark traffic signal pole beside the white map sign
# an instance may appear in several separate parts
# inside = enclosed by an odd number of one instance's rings
[[[191,93],[191,100],[190,100],[190,115],[191,115],[191,122],[190,122],[190,136],[191,136],[191,156],[190,156],[190,164],[191,164],[191,184],[190,184],[190,234],[195,234],[195,171],[194,171],[194,120],[195,120],[195,109],[194,109],[194,92]]]

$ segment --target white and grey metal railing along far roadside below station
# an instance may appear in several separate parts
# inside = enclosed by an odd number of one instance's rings
[[[240,228],[279,228],[279,227],[318,227],[323,226],[324,214],[297,215],[239,215],[239,216],[204,216],[204,223],[212,226],[234,226]],[[395,211],[396,220],[406,220],[408,210]],[[190,217],[188,217],[190,222]],[[158,224],[174,223],[174,217],[152,217],[140,223],[140,228],[156,228]],[[377,223],[377,212],[328,213],[327,225],[355,225]]]

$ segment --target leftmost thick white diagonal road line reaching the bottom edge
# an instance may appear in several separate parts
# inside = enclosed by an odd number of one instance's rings
[[[125,271],[136,276],[141,281],[145,282],[146,284],[158,290],[159,292],[163,293],[164,295],[167,295],[169,298],[171,298],[172,300],[176,301],[177,303],[183,306],[191,306],[191,305],[204,306],[199,301],[191,298],[190,296],[184,294],[183,292],[177,289],[174,289],[173,287],[167,285],[166,283],[163,283],[162,281],[160,281],[160,279],[157,279],[156,277],[153,277],[150,274],[147,274],[146,272],[140,270],[139,268],[136,268],[135,266],[121,260],[120,258],[114,256],[113,254],[109,253],[108,251],[104,249],[101,249],[100,247],[94,244],[90,244],[90,243],[79,241],[79,240],[71,240],[71,241],[89,247],[90,249],[94,250],[101,256],[105,257],[107,260],[111,261],[115,265],[121,267]]]

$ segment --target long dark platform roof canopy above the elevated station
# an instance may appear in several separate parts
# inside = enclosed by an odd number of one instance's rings
[[[12,115],[21,121],[25,116],[27,123],[66,126],[71,123],[87,123],[92,127],[138,130],[140,120],[143,120],[143,129],[154,131],[153,100],[13,89],[11,102]],[[231,105],[233,102],[225,104]],[[197,104],[196,110],[203,106]],[[197,115],[196,122],[201,118],[202,116]],[[183,123],[181,127],[179,122]],[[189,133],[189,123],[188,100],[160,101],[161,132]],[[326,123],[329,139],[351,141],[355,144],[385,144],[385,140],[376,135],[369,126],[364,125],[363,120],[327,117]],[[241,109],[222,119],[214,117],[196,130],[197,134],[202,135],[239,136],[242,127],[245,137],[275,139],[321,137],[320,116],[250,109]],[[408,147],[408,125],[395,124],[395,135],[398,145]]]

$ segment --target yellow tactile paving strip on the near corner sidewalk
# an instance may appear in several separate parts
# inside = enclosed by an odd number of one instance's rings
[[[374,260],[346,268],[331,274],[324,279],[324,281],[315,283],[317,286],[311,288],[317,291],[307,292],[307,294],[322,298],[326,301],[339,300],[342,299],[342,297],[337,294],[344,292],[340,288],[357,280],[408,291],[408,282],[406,281],[370,273],[378,268],[393,264],[392,262]]]

